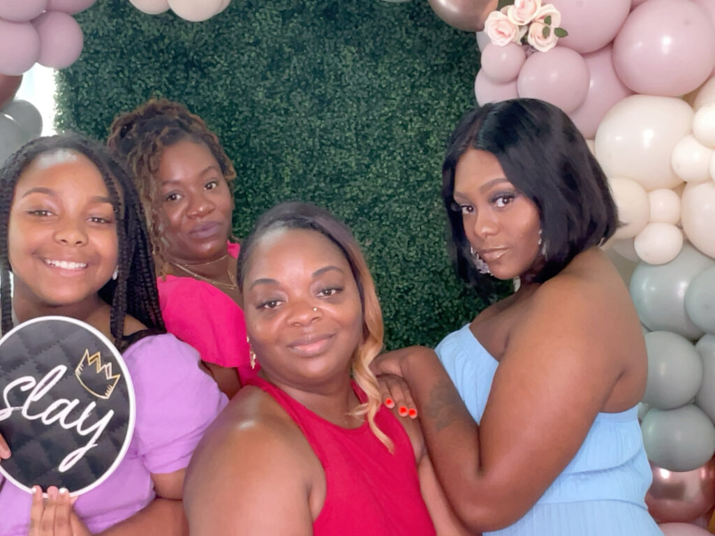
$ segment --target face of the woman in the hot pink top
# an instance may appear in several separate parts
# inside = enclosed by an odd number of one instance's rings
[[[204,143],[184,139],[164,149],[154,207],[169,257],[207,262],[226,254],[233,197]]]

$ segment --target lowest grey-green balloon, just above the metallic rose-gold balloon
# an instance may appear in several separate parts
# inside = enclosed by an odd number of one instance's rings
[[[650,410],[641,431],[648,459],[669,471],[697,469],[715,452],[715,426],[692,404]]]

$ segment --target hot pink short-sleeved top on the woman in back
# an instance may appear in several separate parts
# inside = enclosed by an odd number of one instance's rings
[[[232,257],[239,251],[239,244],[229,242]],[[243,384],[252,371],[243,311],[236,302],[193,277],[159,277],[157,287],[167,331],[196,348],[205,362],[237,368]]]

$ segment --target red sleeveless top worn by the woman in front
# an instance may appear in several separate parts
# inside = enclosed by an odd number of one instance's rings
[[[395,443],[390,454],[365,420],[355,429],[319,417],[260,377],[247,379],[270,394],[300,427],[325,471],[325,502],[315,536],[434,536],[420,494],[415,454],[397,417],[380,407],[375,422]],[[361,402],[365,394],[353,384]]]

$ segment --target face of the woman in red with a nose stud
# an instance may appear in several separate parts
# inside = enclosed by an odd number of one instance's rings
[[[349,378],[363,337],[350,264],[320,232],[277,229],[259,239],[245,271],[247,332],[275,384],[310,389]]]

